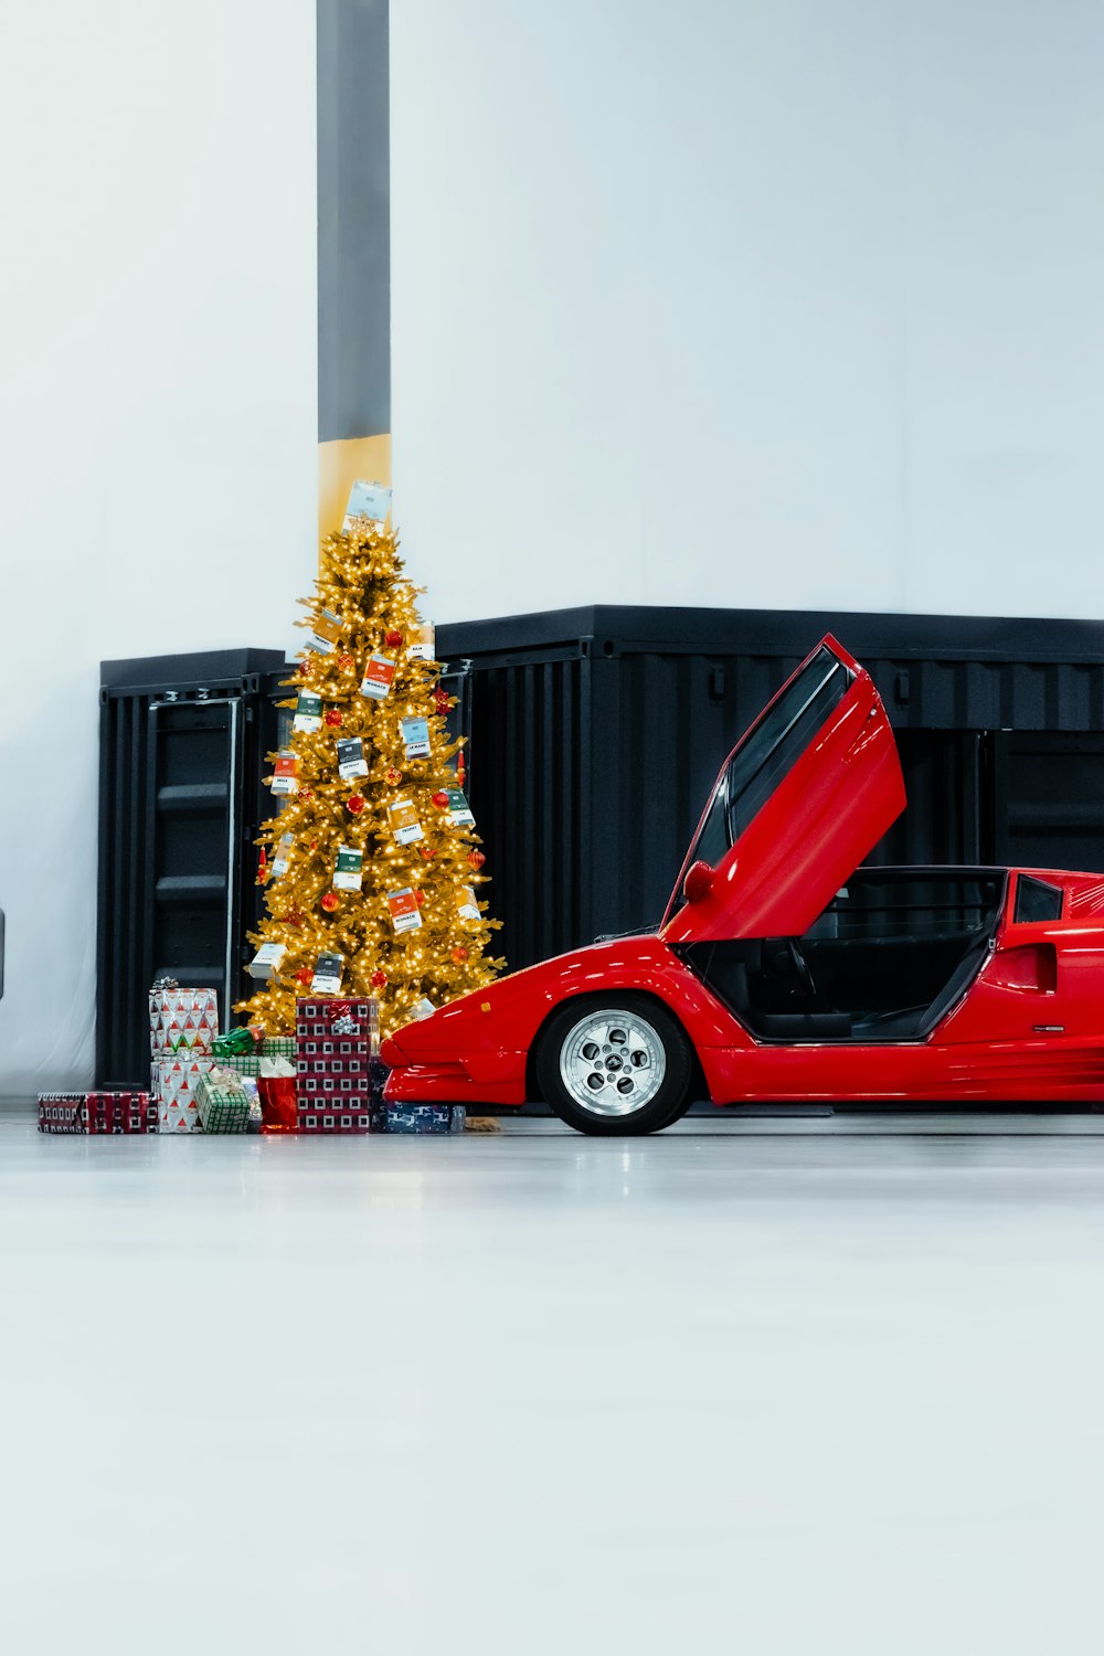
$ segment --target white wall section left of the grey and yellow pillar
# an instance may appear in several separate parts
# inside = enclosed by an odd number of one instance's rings
[[[91,1081],[98,662],[291,646],[316,568],[314,0],[0,22],[0,1095]]]

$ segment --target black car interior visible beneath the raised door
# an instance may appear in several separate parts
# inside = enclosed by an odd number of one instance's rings
[[[1003,869],[861,868],[804,937],[682,952],[758,1040],[924,1040],[980,970],[1005,884]]]

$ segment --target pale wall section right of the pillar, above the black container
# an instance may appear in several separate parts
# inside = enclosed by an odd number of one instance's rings
[[[1104,614],[1096,0],[394,0],[440,619]]]

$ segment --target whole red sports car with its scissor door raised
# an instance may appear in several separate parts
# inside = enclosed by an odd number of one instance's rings
[[[654,934],[384,1043],[392,1101],[546,1100],[652,1133],[695,1098],[1104,1098],[1104,876],[861,868],[904,810],[871,676],[826,638],[733,749]]]

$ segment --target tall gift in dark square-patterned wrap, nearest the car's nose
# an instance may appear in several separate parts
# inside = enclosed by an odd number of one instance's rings
[[[367,1133],[379,1004],[303,995],[295,1009],[300,1133]]]

